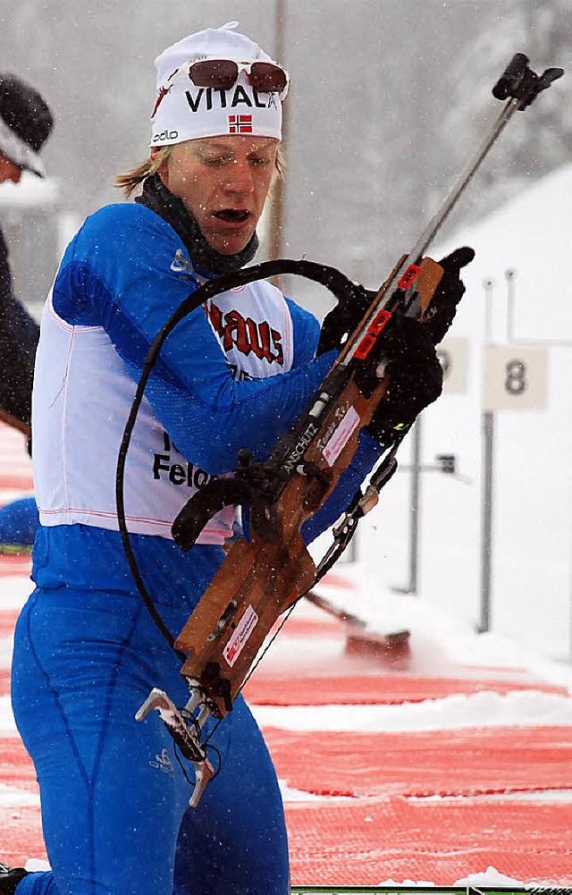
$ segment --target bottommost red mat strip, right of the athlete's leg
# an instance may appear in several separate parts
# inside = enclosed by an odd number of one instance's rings
[[[286,805],[292,882],[378,885],[393,880],[453,885],[493,866],[544,885],[572,880],[566,804],[388,800]]]

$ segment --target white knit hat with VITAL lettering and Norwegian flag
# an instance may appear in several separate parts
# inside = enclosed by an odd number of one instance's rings
[[[237,24],[231,21],[222,28],[191,34],[158,55],[150,146],[235,133],[281,139],[280,97],[253,90],[246,72],[239,73],[230,90],[196,87],[189,78],[187,66],[204,59],[273,61],[258,44],[234,30]]]

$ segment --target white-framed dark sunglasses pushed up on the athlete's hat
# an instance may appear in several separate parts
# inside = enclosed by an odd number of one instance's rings
[[[213,90],[230,90],[238,81],[240,72],[258,93],[278,93],[280,99],[288,91],[288,72],[273,62],[235,62],[234,59],[201,59],[190,65],[184,64],[177,72],[188,72],[195,87],[211,87]]]

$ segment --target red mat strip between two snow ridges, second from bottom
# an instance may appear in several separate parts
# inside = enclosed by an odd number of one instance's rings
[[[572,790],[572,728],[415,733],[264,729],[278,777],[314,795],[475,795]],[[572,805],[569,806],[572,825]],[[571,867],[572,874],[572,867]]]

